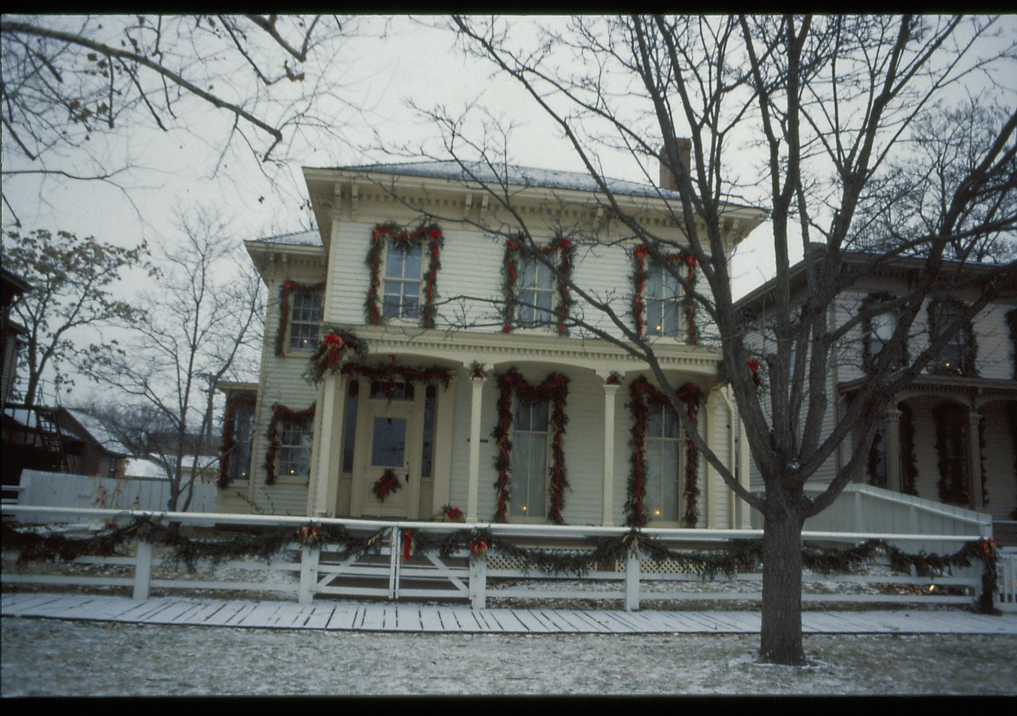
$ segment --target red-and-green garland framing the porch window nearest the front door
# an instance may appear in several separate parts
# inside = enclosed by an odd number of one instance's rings
[[[565,423],[569,417],[565,415],[565,399],[569,396],[569,378],[560,373],[551,373],[539,385],[531,385],[526,381],[519,370],[510,368],[503,373],[496,373],[495,379],[498,384],[498,421],[491,432],[491,436],[497,443],[498,453],[494,458],[494,469],[497,470],[498,479],[494,483],[497,490],[497,509],[494,514],[494,522],[505,521],[505,509],[508,504],[511,492],[511,472],[512,472],[512,442],[508,439],[512,434],[513,420],[513,394],[519,397],[524,404],[530,405],[537,401],[548,401],[551,404],[551,482],[548,487],[550,496],[550,506],[547,511],[547,518],[556,525],[564,524],[561,518],[561,511],[564,509],[564,489],[569,486],[565,478],[565,454],[562,449],[562,437],[565,434]]]

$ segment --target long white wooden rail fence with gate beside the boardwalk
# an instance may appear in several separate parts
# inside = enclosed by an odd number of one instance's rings
[[[157,512],[124,512],[110,510],[74,510],[60,508],[32,508],[4,505],[5,516],[16,517],[22,522],[39,522],[45,518],[51,522],[92,523],[95,527],[104,521],[117,524],[127,524],[126,520],[135,517],[145,517],[158,520],[163,524],[178,524],[189,530],[200,531],[200,526],[216,524],[218,526],[248,526],[248,527],[281,527],[289,526],[296,531],[308,524],[306,517],[275,517],[259,515],[227,515],[199,513],[157,513]],[[152,589],[210,589],[210,590],[240,590],[240,591],[279,591],[295,594],[300,603],[310,603],[315,595],[336,595],[346,597],[376,597],[381,599],[468,599],[474,608],[483,608],[487,599],[497,598],[583,598],[596,600],[620,600],[626,609],[638,609],[641,600],[759,600],[762,593],[755,591],[712,591],[690,592],[668,587],[678,586],[676,583],[699,581],[696,575],[669,574],[667,562],[655,562],[646,555],[630,552],[627,559],[616,563],[598,564],[594,571],[582,576],[556,575],[548,577],[534,570],[526,570],[511,558],[503,557],[494,550],[488,551],[484,558],[471,558],[463,549],[448,557],[438,554],[414,554],[405,558],[403,539],[406,531],[411,530],[420,535],[431,535],[435,538],[447,537],[459,531],[484,530],[493,537],[511,541],[515,544],[540,546],[552,549],[589,549],[592,540],[597,538],[617,538],[629,532],[622,527],[582,527],[582,526],[545,526],[545,525],[503,525],[503,524],[457,524],[433,522],[387,522],[374,520],[339,520],[315,519],[314,523],[322,527],[342,526],[351,535],[362,538],[375,537],[374,550],[366,554],[349,554],[337,545],[308,546],[296,539],[288,547],[288,553],[294,560],[288,561],[286,553],[277,556],[270,562],[254,559],[237,559],[224,561],[218,568],[226,570],[243,570],[254,573],[250,579],[201,580],[194,575],[173,574],[160,576],[158,565],[158,545],[139,542],[134,553],[128,556],[87,556],[74,560],[78,564],[105,564],[126,572],[132,568],[132,574],[81,576],[74,575],[33,575],[27,571],[5,570],[3,582],[11,584],[64,584],[64,585],[110,585],[129,587],[133,589],[135,599],[145,599]],[[731,540],[758,540],[762,537],[761,530],[683,530],[683,529],[653,529],[643,530],[652,539],[659,540],[668,548],[674,550],[709,550],[725,546]],[[944,554],[957,551],[965,542],[978,539],[974,536],[955,535],[908,535],[908,534],[859,534],[845,532],[803,532],[802,540],[807,542],[842,543],[853,545],[869,539],[884,539],[897,544],[921,543],[938,545],[939,549],[930,550]],[[917,551],[917,550],[908,550]],[[296,555],[299,554],[299,557]],[[4,554],[5,561],[13,559],[13,554]],[[8,562],[9,563],[9,562]],[[1012,564],[1004,566],[1011,570],[1009,575],[1012,585]],[[211,562],[199,562],[198,566],[212,566]],[[155,569],[154,569],[155,568]],[[265,577],[265,573],[268,574]],[[281,574],[290,574],[287,581]],[[851,602],[920,602],[922,604],[952,603],[970,604],[977,599],[981,587],[981,568],[954,570],[953,574],[943,577],[918,577],[902,575],[836,575],[822,576],[805,574],[803,581],[827,583],[853,583],[856,585],[903,585],[910,593],[906,594],[841,594],[841,593],[811,593],[803,592],[803,601],[851,601]],[[297,580],[299,576],[299,581]],[[759,573],[735,574],[731,577],[718,576],[717,581],[760,582]],[[488,580],[492,580],[490,588]],[[580,589],[572,591],[551,589],[527,589],[508,586],[497,588],[499,580],[536,580],[547,582],[552,580],[596,580],[606,582],[606,591]],[[1001,582],[1004,580],[1001,579]],[[929,587],[962,588],[962,592],[971,594],[935,595]],[[745,585],[749,586],[749,585]],[[971,596],[973,594],[973,596]],[[1001,595],[1013,594],[1001,592]],[[1012,599],[1012,596],[1010,597]]]

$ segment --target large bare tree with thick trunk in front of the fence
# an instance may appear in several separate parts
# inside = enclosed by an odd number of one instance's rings
[[[763,496],[739,485],[710,451],[661,370],[653,343],[633,330],[630,316],[597,287],[577,285],[540,251],[527,216],[515,210],[507,134],[489,121],[471,134],[468,117],[443,108],[427,112],[442,130],[444,157],[459,161],[473,185],[484,186],[515,219],[503,231],[484,230],[516,238],[522,252],[585,302],[586,315],[571,318],[580,335],[616,343],[648,363],[700,454],[763,514],[762,656],[802,663],[805,519],[828,508],[858,473],[887,401],[930,364],[963,321],[1012,292],[1017,280],[1013,264],[986,267],[970,287],[978,298],[964,315],[940,326],[906,366],[892,365],[890,356],[924,299],[934,289],[956,288],[963,262],[979,255],[976,247],[1017,224],[1011,86],[1017,75],[1013,40],[1006,35],[1012,25],[1001,28],[994,18],[911,16],[634,16],[578,18],[566,27],[544,29],[520,28],[518,20],[456,17],[453,25],[468,53],[518,80],[534,108],[557,125],[595,182],[605,214],[625,227],[622,241],[665,266],[715,326],[749,449],[762,473]],[[971,90],[980,113],[972,140],[965,146],[955,139],[922,142],[926,129],[951,121],[941,103],[961,81],[978,86]],[[994,104],[1006,109],[986,115],[982,108]],[[681,135],[691,138],[689,165],[681,159]],[[955,150],[968,161],[954,162],[949,152]],[[665,259],[673,242],[616,200],[599,158],[619,151],[651,183],[658,163],[673,175],[675,191],[659,196],[683,231],[687,244],[681,249],[694,254],[705,287],[690,284],[685,272]],[[905,163],[916,173],[906,227],[898,224],[900,240],[870,254],[862,273],[910,254],[920,257],[918,278],[910,293],[892,302],[900,319],[890,350],[864,379],[858,400],[831,424],[830,362],[861,321],[888,310],[871,305],[831,323],[830,303],[857,278],[840,271],[841,258],[864,236],[879,233],[880,217],[895,211],[897,197],[906,192],[903,183],[892,187],[891,175],[895,165]],[[937,200],[929,200],[933,193],[919,196],[918,176],[937,178]],[[881,185],[886,192],[876,190]],[[763,205],[772,222],[777,271],[765,325],[746,324],[734,307],[725,224],[731,203]],[[792,301],[792,241],[800,241],[804,252],[803,302]],[[823,243],[823,250],[815,250],[814,242]],[[622,339],[598,329],[602,316]],[[754,327],[773,337],[774,350],[762,356],[752,352]],[[806,358],[795,362],[795,353]],[[757,391],[746,367],[754,358],[762,359],[766,392]],[[806,496],[805,481],[858,425],[868,430],[854,457],[819,497]]]

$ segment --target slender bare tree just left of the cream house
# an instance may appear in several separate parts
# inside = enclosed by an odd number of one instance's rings
[[[246,374],[260,346],[264,296],[258,277],[240,260],[225,222],[213,212],[180,218],[185,240],[161,257],[161,280],[143,294],[149,319],[132,323],[128,347],[94,347],[80,368],[132,397],[123,427],[164,465],[168,509],[186,511],[202,456],[211,452],[212,393],[219,380]],[[207,382],[205,382],[207,381]],[[204,386],[207,401],[200,398]],[[138,416],[142,418],[139,421]],[[122,417],[122,416],[121,416]],[[184,461],[191,460],[185,478]]]

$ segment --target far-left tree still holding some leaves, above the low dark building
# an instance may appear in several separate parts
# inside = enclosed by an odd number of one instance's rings
[[[154,274],[144,260],[147,246],[127,249],[103,243],[89,236],[79,239],[66,231],[53,236],[40,229],[21,234],[7,232],[3,243],[3,264],[23,277],[33,290],[14,304],[14,315],[27,330],[25,354],[21,362],[27,369],[23,401],[36,404],[41,381],[52,371],[54,384],[61,389],[74,384],[66,366],[81,350],[74,334],[87,327],[96,332],[116,321],[136,322],[143,311],[117,300],[110,288],[120,280],[120,272],[138,266]],[[114,342],[115,343],[115,342]],[[112,350],[112,343],[100,346]]]

